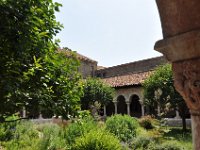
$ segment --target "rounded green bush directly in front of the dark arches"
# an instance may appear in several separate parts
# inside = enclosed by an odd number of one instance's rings
[[[124,142],[136,137],[138,126],[138,121],[128,115],[115,115],[106,120],[106,129]]]

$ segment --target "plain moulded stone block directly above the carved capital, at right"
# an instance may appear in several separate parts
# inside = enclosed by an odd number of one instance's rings
[[[200,30],[194,30],[157,41],[154,49],[165,55],[170,62],[200,57]]]

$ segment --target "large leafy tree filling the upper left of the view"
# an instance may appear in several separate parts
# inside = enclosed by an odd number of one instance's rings
[[[51,108],[65,117],[75,110],[78,61],[58,53],[53,40],[62,28],[54,14],[59,6],[52,0],[0,1],[0,122],[23,107]]]

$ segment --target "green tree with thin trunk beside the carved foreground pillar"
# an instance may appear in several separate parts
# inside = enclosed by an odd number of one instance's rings
[[[143,86],[145,104],[152,108],[159,106],[162,113],[170,109],[178,110],[182,116],[183,130],[185,130],[185,115],[188,109],[173,85],[171,65],[165,64],[157,67],[153,74],[144,81]]]

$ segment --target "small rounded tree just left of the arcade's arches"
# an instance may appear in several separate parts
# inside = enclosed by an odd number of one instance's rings
[[[82,109],[89,109],[95,102],[107,105],[113,100],[114,89],[100,79],[88,78],[83,83],[83,97],[81,98]]]

